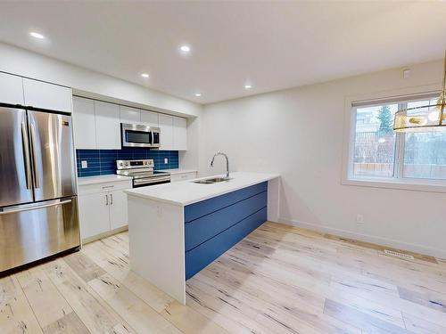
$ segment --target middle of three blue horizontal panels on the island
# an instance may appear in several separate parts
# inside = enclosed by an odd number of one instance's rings
[[[263,191],[245,200],[214,211],[209,215],[202,216],[190,223],[185,224],[185,247],[186,251],[210,240],[219,232],[235,225],[252,213],[265,208],[268,204],[268,192]]]

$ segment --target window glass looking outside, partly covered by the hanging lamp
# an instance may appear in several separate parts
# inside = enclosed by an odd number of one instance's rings
[[[446,180],[446,131],[393,132],[396,111],[435,103],[435,94],[401,101],[353,102],[349,179]]]

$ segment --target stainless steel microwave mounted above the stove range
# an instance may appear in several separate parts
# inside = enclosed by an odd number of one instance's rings
[[[122,147],[160,147],[160,128],[136,124],[120,124]]]

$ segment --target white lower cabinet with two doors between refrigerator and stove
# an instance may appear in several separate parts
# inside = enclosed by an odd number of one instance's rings
[[[131,181],[79,185],[78,211],[82,240],[88,242],[128,224],[127,195]]]

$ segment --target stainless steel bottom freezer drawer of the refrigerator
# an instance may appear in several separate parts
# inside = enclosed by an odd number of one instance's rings
[[[79,244],[76,196],[0,211],[0,272]]]

